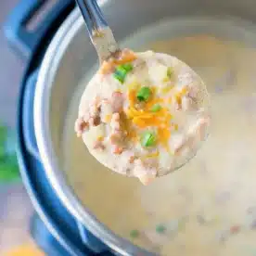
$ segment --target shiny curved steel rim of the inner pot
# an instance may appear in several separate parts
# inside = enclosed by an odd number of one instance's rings
[[[109,0],[101,1],[101,6]],[[83,26],[83,17],[78,8],[75,8],[70,16],[63,22],[45,52],[41,68],[38,74],[34,96],[33,118],[35,136],[45,173],[51,186],[70,213],[97,238],[109,246],[112,250],[122,255],[151,254],[128,240],[118,237],[109,228],[100,223],[96,216],[87,209],[79,198],[72,192],[71,187],[65,181],[63,172],[58,168],[57,156],[53,150],[50,136],[49,120],[47,118],[50,104],[51,84],[54,81],[55,70],[69,45],[70,40]],[[154,255],[154,254],[152,254]]]

